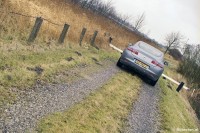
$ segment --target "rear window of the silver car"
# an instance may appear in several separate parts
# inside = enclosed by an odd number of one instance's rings
[[[154,48],[153,46],[151,46],[147,43],[140,42],[138,45],[141,49],[143,49],[144,51],[146,51],[156,57],[161,57],[163,55],[163,53],[160,50]]]

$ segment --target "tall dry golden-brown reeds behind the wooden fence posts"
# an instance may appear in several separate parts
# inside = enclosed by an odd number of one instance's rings
[[[139,35],[130,32],[113,21],[108,20],[98,14],[81,9],[76,5],[66,4],[63,0],[8,0],[4,1],[1,9],[4,11],[14,11],[31,16],[41,16],[48,20],[61,24],[54,26],[49,22],[44,22],[37,40],[49,42],[58,39],[64,23],[70,25],[70,31],[67,37],[68,41],[77,43],[79,41],[82,28],[87,28],[84,42],[90,42],[95,30],[99,31],[96,44],[99,47],[107,48],[108,38],[113,37],[113,43],[124,48],[129,42],[143,40]],[[12,14],[0,13],[5,21],[1,23],[6,31],[1,32],[4,40],[13,40],[19,36],[19,40],[27,38],[35,19],[24,18]],[[5,34],[6,33],[6,36]],[[13,34],[14,33],[14,34]],[[21,35],[22,33],[22,35]],[[144,40],[145,41],[145,40]],[[150,42],[149,42],[150,43]]]

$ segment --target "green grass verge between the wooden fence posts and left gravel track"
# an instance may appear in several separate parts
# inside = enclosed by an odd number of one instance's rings
[[[7,46],[1,44],[0,47],[0,107],[15,101],[18,94],[11,91],[11,88],[27,89],[38,80],[44,83],[54,82],[55,75],[77,65],[95,64],[92,58],[98,61],[119,58],[119,54],[115,51],[106,52],[93,47],[85,48],[77,45],[73,45],[71,48],[66,45],[52,45],[49,48],[45,44],[38,44],[32,48],[32,46],[19,44],[18,47],[15,49],[15,45],[10,44]],[[78,56],[75,51],[80,52],[82,56]],[[74,60],[67,61],[68,57],[72,57]],[[37,74],[32,70],[35,67],[42,68],[44,71]]]

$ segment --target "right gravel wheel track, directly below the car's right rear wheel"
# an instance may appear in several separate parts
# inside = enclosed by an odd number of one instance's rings
[[[152,87],[143,83],[139,98],[128,116],[125,133],[159,132],[159,92],[158,84]]]

